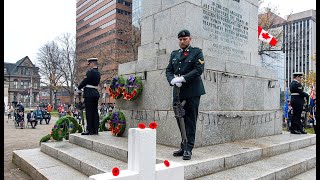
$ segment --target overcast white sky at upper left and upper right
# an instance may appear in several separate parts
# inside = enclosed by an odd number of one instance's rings
[[[134,1],[134,0],[133,0]],[[264,0],[280,16],[316,9],[316,0]],[[4,0],[4,61],[15,63],[29,56],[36,63],[45,43],[63,33],[75,35],[76,0]]]

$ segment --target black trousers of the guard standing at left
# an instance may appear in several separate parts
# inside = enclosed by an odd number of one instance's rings
[[[85,98],[87,131],[91,134],[98,133],[99,130],[99,114],[98,114],[99,97]]]

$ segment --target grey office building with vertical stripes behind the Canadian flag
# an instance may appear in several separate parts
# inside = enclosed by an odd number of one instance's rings
[[[292,14],[283,26],[285,79],[289,86],[293,72],[316,72],[316,10]]]

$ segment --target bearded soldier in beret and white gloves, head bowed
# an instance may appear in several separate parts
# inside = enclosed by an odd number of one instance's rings
[[[190,160],[195,142],[196,125],[200,96],[205,94],[201,74],[204,70],[204,57],[202,50],[190,45],[191,37],[188,30],[178,34],[179,50],[171,53],[169,64],[166,68],[166,77],[170,86],[180,87],[180,101],[186,100],[184,110],[185,129],[187,135],[187,149],[181,148],[173,152],[173,156],[183,156]],[[173,105],[177,102],[177,88],[173,89]],[[177,121],[180,132],[180,123]]]

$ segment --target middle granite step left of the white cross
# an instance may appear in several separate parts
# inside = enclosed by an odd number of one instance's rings
[[[40,150],[87,176],[111,172],[114,167],[127,169],[127,163],[123,161],[71,144],[68,141],[42,143]]]

